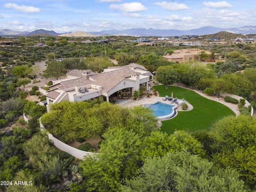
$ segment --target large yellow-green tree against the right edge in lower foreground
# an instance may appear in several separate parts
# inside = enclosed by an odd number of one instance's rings
[[[245,184],[256,186],[256,119],[240,115],[226,117],[217,122],[210,132],[214,147],[214,162],[227,168],[237,169]]]

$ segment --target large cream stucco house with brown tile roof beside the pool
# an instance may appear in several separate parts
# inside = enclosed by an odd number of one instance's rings
[[[53,81],[47,92],[47,105],[61,101],[86,101],[103,96],[107,102],[118,93],[130,96],[140,85],[150,89],[148,82],[152,74],[144,66],[132,63],[126,66],[113,66],[102,73],[91,70],[72,70],[66,79]],[[85,88],[87,89],[85,91]]]

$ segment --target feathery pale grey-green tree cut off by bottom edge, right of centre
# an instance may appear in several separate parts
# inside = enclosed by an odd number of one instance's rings
[[[167,153],[166,156],[148,158],[140,174],[126,179],[121,187],[124,192],[245,192],[239,174],[221,169],[212,162],[186,152]]]

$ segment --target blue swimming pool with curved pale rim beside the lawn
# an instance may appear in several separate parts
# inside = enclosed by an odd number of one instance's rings
[[[154,104],[146,104],[145,107],[152,108],[154,112],[154,116],[156,116],[159,120],[169,119],[173,117],[176,112],[175,109],[177,106],[156,102]]]

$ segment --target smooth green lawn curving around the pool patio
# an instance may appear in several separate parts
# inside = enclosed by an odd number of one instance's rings
[[[169,86],[166,89],[163,85],[153,88],[157,89],[160,97],[171,96],[173,92],[174,98],[185,98],[193,106],[190,111],[179,111],[176,117],[162,121],[161,130],[168,134],[173,134],[175,130],[194,132],[200,129],[209,129],[212,124],[224,116],[236,116],[227,106],[204,98],[192,90],[175,86]]]

